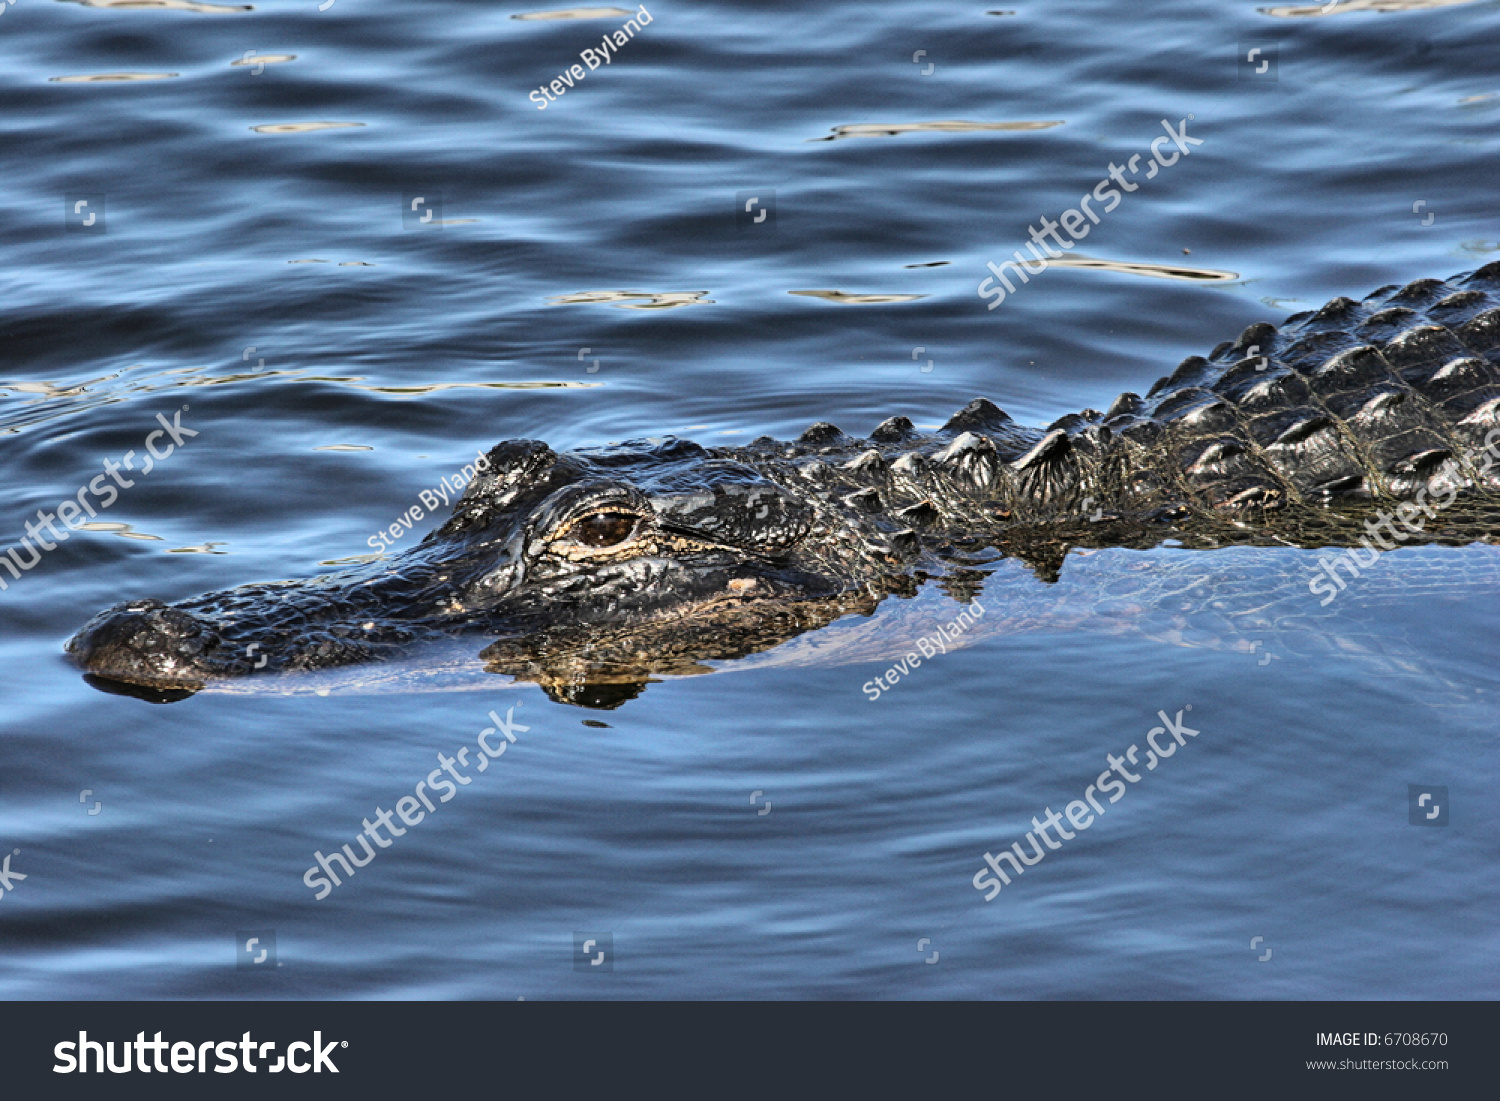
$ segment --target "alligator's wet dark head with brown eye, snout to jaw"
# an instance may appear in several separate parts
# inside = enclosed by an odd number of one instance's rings
[[[476,464],[448,520],[406,552],[308,580],[244,585],[94,616],[66,651],[106,690],[180,699],[210,681],[392,657],[483,634],[494,672],[615,706],[652,672],[770,648],[872,610],[872,567],[826,504],[666,438],[555,453],[532,440]]]

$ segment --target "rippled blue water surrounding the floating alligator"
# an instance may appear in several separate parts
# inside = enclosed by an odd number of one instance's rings
[[[1485,546],[1398,550],[1322,618],[1290,548],[1076,556],[1034,621],[1042,584],[1000,570],[987,627],[873,702],[956,606],[608,712],[506,676],[162,706],[62,657],[114,602],[369,554],[498,440],[867,432],[976,394],[1047,423],[1500,256],[1500,3],[1008,3],[660,0],[546,110],[624,12],[4,8],[0,540],[158,414],[198,435],[0,592],[0,996],[1500,996]],[[58,80],[110,74],[136,78]],[[952,120],[1056,124],[836,129]],[[1220,278],[1058,266],[986,309],[986,262],[1164,122],[1202,144],[1071,255]],[[1100,614],[1194,570],[1274,630]],[[984,902],[987,850],[1188,705],[1179,754]],[[506,756],[315,898],[314,852],[512,708]],[[1408,784],[1446,788],[1444,828]]]

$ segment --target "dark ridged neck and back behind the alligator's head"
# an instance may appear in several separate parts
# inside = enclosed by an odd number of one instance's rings
[[[1190,356],[1144,398],[1046,429],[987,399],[936,432],[892,416],[867,438],[828,423],[718,448],[810,486],[885,532],[1046,525],[1102,510],[1214,519],[1408,500],[1455,459],[1467,486],[1500,426],[1500,262],[1334,298]]]

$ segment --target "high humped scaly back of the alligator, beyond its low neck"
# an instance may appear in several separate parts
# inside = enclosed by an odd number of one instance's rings
[[[1413,496],[1500,424],[1500,262],[1334,298],[1188,357],[1104,426],[1200,508]]]

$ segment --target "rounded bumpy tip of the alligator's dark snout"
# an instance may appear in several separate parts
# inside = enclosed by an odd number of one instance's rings
[[[208,624],[160,600],[134,600],[100,612],[64,650],[86,674],[146,688],[196,690],[213,675],[219,636]]]

